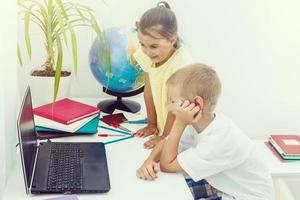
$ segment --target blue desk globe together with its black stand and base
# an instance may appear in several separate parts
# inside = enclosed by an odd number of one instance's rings
[[[112,113],[115,109],[138,112],[139,104],[130,100],[122,100],[122,97],[134,96],[143,92],[143,70],[133,57],[138,48],[136,31],[112,27],[105,30],[105,36],[109,55],[106,55],[105,42],[102,39],[103,56],[100,58],[99,40],[95,39],[90,49],[89,64],[92,74],[102,85],[103,91],[116,96],[117,99],[102,101],[98,107],[107,113]],[[110,73],[107,72],[106,67],[108,57]]]

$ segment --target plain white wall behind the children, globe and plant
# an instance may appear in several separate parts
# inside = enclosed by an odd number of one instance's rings
[[[134,25],[145,10],[155,5],[154,1],[138,0],[80,2],[92,6],[106,27]],[[298,132],[300,2],[168,2],[178,17],[180,34],[196,60],[215,67],[221,77],[223,94],[218,110],[232,117],[252,138],[266,138],[274,132]],[[78,35],[79,76],[74,79],[72,96],[103,96],[88,65],[93,37],[86,29]],[[40,35],[36,34],[32,62],[35,66],[44,59],[44,54],[39,53],[43,52],[40,43]],[[71,66],[70,57],[65,64]],[[25,67],[20,72],[21,86],[22,77],[27,77],[24,71],[29,69]]]

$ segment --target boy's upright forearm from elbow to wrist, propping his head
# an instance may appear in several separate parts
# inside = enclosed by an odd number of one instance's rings
[[[178,145],[181,135],[186,125],[178,120],[175,120],[171,133],[162,149],[160,159],[160,169],[163,172],[179,172],[182,171],[181,166],[177,161]]]

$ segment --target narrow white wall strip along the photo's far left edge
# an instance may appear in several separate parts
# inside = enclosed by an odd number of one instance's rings
[[[16,2],[0,12],[0,199],[15,158],[17,112]]]

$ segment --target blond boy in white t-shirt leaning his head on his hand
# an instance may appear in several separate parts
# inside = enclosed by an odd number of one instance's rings
[[[226,116],[215,113],[221,93],[216,72],[203,64],[176,71],[167,81],[175,121],[137,177],[184,171],[195,199],[274,199],[271,177],[251,140]]]

